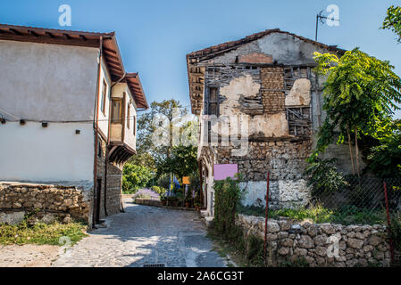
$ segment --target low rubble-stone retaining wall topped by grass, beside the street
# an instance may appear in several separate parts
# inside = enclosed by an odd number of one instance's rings
[[[264,238],[264,218],[238,215],[236,224],[246,235]],[[310,266],[352,267],[390,264],[386,226],[268,221],[267,240],[273,265],[304,259]]]

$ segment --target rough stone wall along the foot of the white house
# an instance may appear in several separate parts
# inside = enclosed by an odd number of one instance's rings
[[[72,186],[0,183],[0,223],[15,224],[33,211],[90,221],[90,193]]]

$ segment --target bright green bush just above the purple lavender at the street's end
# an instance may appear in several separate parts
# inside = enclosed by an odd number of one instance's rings
[[[139,188],[146,186],[152,179],[152,170],[149,167],[126,163],[122,170],[122,191],[134,193]]]

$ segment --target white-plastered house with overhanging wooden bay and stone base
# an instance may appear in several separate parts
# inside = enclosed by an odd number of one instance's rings
[[[121,170],[148,104],[114,32],[0,25],[0,210],[96,224],[121,210]]]

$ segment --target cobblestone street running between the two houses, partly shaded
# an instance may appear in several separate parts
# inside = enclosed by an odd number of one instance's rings
[[[107,217],[107,228],[90,232],[52,266],[226,266],[196,212],[131,203],[125,210]]]

